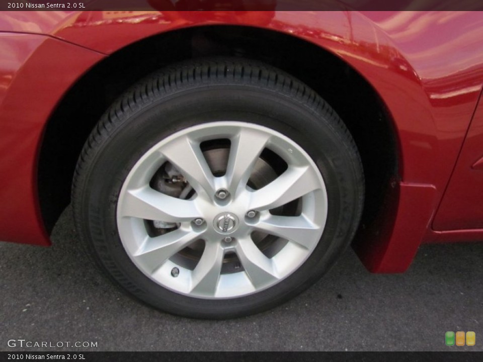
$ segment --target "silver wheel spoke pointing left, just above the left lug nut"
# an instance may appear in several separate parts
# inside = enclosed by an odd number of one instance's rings
[[[165,222],[189,221],[200,216],[193,201],[177,199],[148,186],[127,190],[119,203],[120,216]]]

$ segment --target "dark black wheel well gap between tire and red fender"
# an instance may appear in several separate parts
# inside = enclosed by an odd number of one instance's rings
[[[355,139],[366,178],[368,224],[397,174],[392,120],[372,86],[347,63],[304,40],[271,30],[206,26],[156,35],[112,54],[76,82],[49,119],[40,151],[38,191],[50,233],[70,202],[82,147],[106,109],[139,78],[167,64],[206,56],[264,61],[305,82],[339,114]]]

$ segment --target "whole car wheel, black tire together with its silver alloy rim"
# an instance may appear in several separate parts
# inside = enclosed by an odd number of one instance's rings
[[[99,121],[72,186],[81,239],[118,285],[212,319],[317,281],[351,242],[363,198],[337,114],[289,74],[238,58],[140,81]]]

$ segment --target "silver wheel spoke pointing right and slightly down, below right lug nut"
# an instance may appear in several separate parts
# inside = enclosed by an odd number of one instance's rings
[[[255,228],[293,241],[306,249],[318,241],[316,236],[320,232],[320,228],[303,215],[270,216],[266,220],[261,220]]]

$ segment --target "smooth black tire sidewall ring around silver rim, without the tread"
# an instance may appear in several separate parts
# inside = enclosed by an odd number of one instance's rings
[[[107,116],[105,116],[107,117]],[[146,277],[120,240],[116,209],[124,180],[141,156],[160,140],[201,123],[240,121],[282,133],[317,165],[327,188],[323,235],[308,259],[282,282],[231,299],[200,299],[170,291]],[[193,85],[170,95],[153,94],[120,117],[89,164],[82,184],[83,233],[98,261],[123,288],[160,309],[190,317],[235,317],[266,310],[320,278],[348,245],[361,207],[357,159],[343,132],[314,104],[280,90],[241,84]],[[106,207],[107,206],[107,207]],[[359,209],[359,210],[358,210]]]

